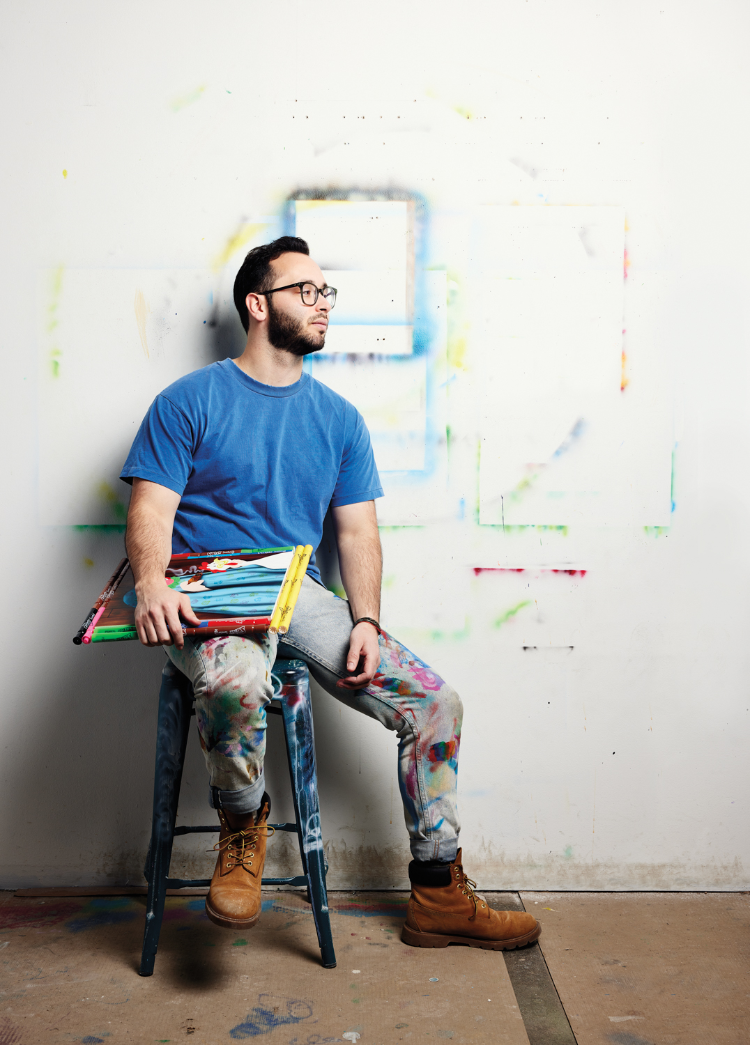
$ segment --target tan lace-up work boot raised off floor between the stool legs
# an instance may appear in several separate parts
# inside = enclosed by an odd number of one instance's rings
[[[271,799],[264,794],[255,825],[234,831],[224,810],[219,810],[222,830],[213,846],[219,850],[219,859],[206,897],[206,914],[226,929],[251,929],[260,916],[260,880],[270,812]]]

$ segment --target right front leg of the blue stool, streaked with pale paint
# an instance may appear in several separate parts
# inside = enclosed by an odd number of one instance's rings
[[[334,938],[331,934],[328,898],[325,891],[325,857],[320,830],[310,678],[303,661],[291,660],[288,664],[287,670],[279,670],[277,667],[277,673],[283,683],[280,700],[289,757],[289,773],[292,781],[294,815],[297,819],[299,835],[299,854],[302,858],[302,869],[308,877],[308,888],[323,967],[335,969],[336,953]]]

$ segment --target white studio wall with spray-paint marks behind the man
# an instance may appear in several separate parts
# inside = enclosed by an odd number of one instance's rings
[[[425,467],[384,472],[382,618],[464,698],[468,869],[750,887],[748,21],[673,0],[6,13],[0,885],[141,881],[163,654],[70,641],[121,554],[120,460],[159,388],[241,350],[233,276],[285,201],[390,187],[426,203],[448,307],[402,403]],[[577,261],[554,254],[563,208]],[[615,215],[600,241],[591,208]],[[600,294],[550,297],[594,270]],[[360,392],[384,366],[315,361]],[[329,884],[402,886],[394,738],[315,711]],[[278,738],[268,763],[283,815]],[[206,822],[195,738],[183,787]],[[209,865],[178,845],[176,868]]]

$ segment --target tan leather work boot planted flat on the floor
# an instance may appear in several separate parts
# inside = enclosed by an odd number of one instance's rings
[[[411,867],[409,870],[411,877]],[[412,947],[469,944],[485,951],[509,951],[539,938],[542,927],[532,914],[493,910],[484,897],[474,891],[476,884],[463,872],[460,850],[455,863],[450,864],[450,884],[412,881],[401,934],[404,943]]]

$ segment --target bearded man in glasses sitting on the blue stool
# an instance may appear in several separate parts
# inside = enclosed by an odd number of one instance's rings
[[[399,736],[399,774],[413,860],[403,939],[500,950],[539,936],[524,913],[493,911],[474,892],[458,850],[457,694],[380,628],[383,495],[369,435],[355,408],[302,372],[325,343],[336,291],[308,245],[282,236],[250,251],[234,302],[245,351],[188,374],[152,404],[122,470],[133,484],[127,547],[136,627],[166,647],[191,680],[219,813],[219,858],[206,899],[218,925],[247,929],[260,912],[270,800],[264,786],[266,705],[275,657],[297,657],[332,696]],[[189,598],[164,583],[173,554],[320,543],[331,506],[347,600],[315,559],[289,632],[194,641]]]

